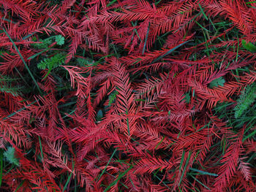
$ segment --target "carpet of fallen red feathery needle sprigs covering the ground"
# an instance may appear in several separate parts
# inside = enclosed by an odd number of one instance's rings
[[[2,79],[23,77],[24,61],[36,65],[29,58],[47,51],[33,47],[39,35],[61,34],[68,45],[68,65],[60,66],[66,77],[37,80],[42,94],[0,92],[0,147],[15,147],[20,162],[3,170],[3,190],[253,191],[255,168],[247,161],[255,140],[243,137],[252,128],[230,127],[214,107],[232,108],[256,82],[255,54],[241,48],[241,39],[256,42],[256,3],[59,2],[0,0]],[[216,30],[205,24],[219,18],[227,28],[192,43],[202,33],[197,24]],[[240,37],[229,39],[234,28]],[[80,50],[105,62],[76,65]],[[71,85],[63,92],[61,78]],[[211,87],[219,78],[224,85]]]

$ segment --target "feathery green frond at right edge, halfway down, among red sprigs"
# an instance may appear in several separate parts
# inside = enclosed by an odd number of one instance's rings
[[[241,93],[235,107],[235,118],[240,118],[241,115],[248,109],[248,107],[256,99],[256,83],[246,86],[244,91]]]

